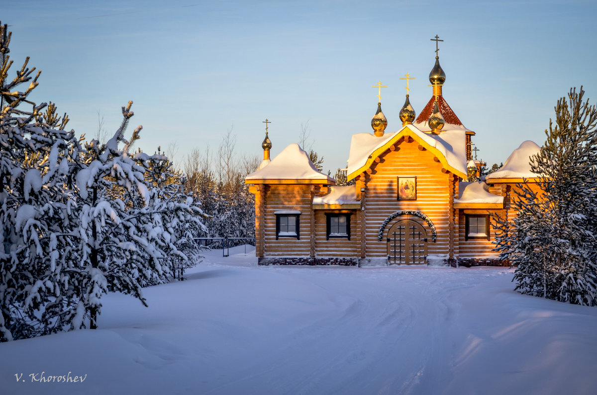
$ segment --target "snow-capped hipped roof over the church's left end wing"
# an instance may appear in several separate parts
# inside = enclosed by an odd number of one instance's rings
[[[309,155],[296,143],[282,150],[267,166],[245,177],[248,184],[254,184],[251,181],[256,180],[301,180],[307,183],[319,181],[323,184],[336,184],[333,178],[313,166]]]

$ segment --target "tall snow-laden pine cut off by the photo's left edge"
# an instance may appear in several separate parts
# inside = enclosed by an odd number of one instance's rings
[[[42,113],[45,103],[27,100],[40,74],[27,67],[29,58],[8,78],[10,36],[0,26],[0,341],[61,330],[68,301],[57,260],[64,246],[56,235],[67,220],[67,158],[79,147],[73,132],[62,130],[66,114],[57,116],[51,103]],[[27,82],[26,90],[16,90]]]

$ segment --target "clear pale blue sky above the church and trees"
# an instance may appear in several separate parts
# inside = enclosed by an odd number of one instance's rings
[[[0,5],[13,25],[14,70],[42,70],[36,102],[67,112],[69,128],[111,133],[133,100],[138,144],[215,152],[229,129],[239,155],[272,155],[308,122],[324,169],[346,166],[350,136],[371,132],[381,81],[386,131],[401,127],[405,73],[417,114],[432,96],[436,34],[444,97],[479,159],[503,162],[524,140],[544,141],[571,87],[597,100],[595,1],[20,1]],[[130,132],[132,132],[131,128]]]

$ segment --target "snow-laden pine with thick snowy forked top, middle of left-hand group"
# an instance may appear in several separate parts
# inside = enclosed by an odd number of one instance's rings
[[[67,258],[73,298],[78,301],[73,329],[86,326],[84,317],[90,318],[91,329],[97,328],[100,298],[106,292],[131,294],[146,305],[141,286],[170,274],[168,266],[162,266],[166,255],[162,246],[171,235],[155,227],[170,208],[156,200],[159,194],[144,180],[150,157],[128,154],[141,130],[139,126],[131,140],[125,140],[131,105],[130,101],[122,107],[122,124],[107,143],[85,144],[84,160],[75,175],[72,222],[78,227],[70,236],[78,242]]]

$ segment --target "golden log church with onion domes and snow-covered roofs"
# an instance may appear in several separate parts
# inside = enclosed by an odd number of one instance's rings
[[[471,152],[475,132],[442,95],[437,54],[436,47],[433,95],[417,118],[407,94],[402,128],[386,132],[380,97],[373,133],[352,136],[347,178],[354,185],[336,186],[298,144],[270,160],[266,124],[264,160],[245,178],[255,195],[259,264],[504,264],[492,251],[491,213],[516,215],[516,183],[539,180],[529,165],[539,147],[525,141],[498,171],[464,181],[467,167],[479,166]]]

